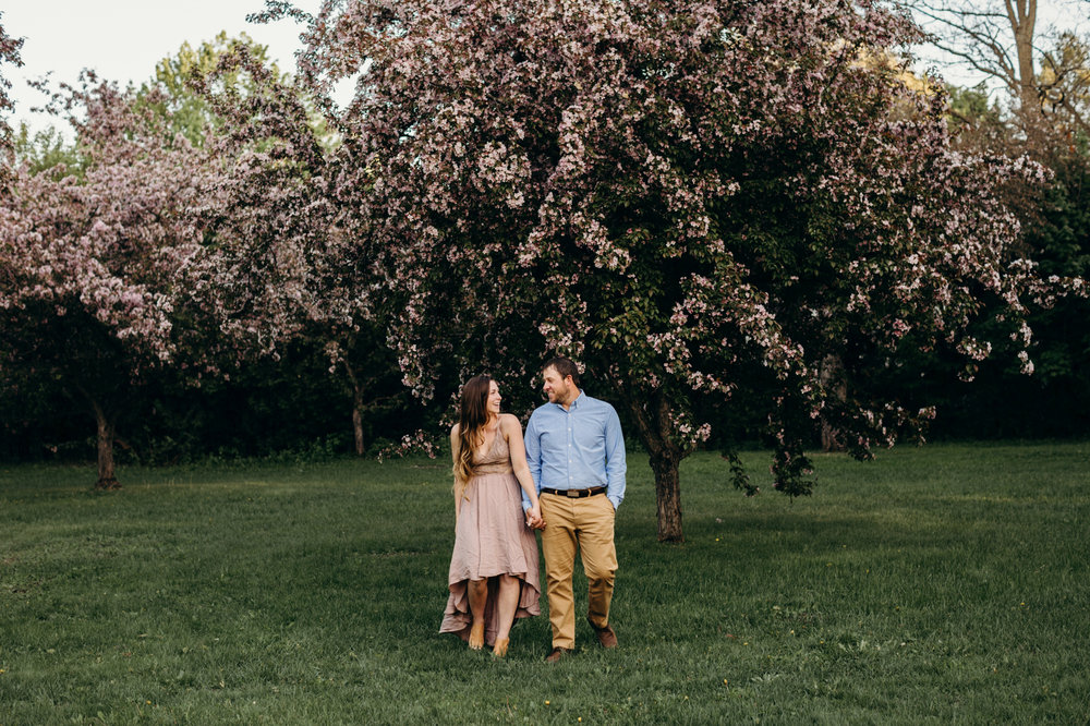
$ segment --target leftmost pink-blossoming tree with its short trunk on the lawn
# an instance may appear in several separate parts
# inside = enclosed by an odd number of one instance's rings
[[[130,94],[73,90],[82,178],[25,166],[0,211],[0,383],[60,385],[93,413],[97,486],[118,486],[119,413],[148,375],[173,363],[199,318],[193,304],[215,166],[165,138]],[[207,287],[207,281],[204,282]],[[199,350],[193,346],[191,350]],[[199,378],[210,362],[197,354]]]

